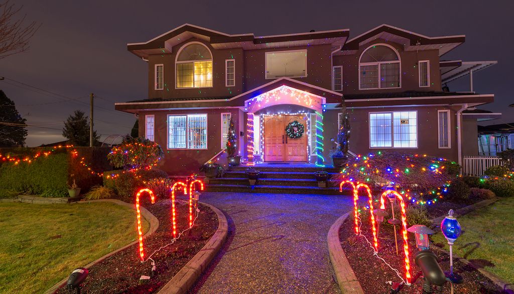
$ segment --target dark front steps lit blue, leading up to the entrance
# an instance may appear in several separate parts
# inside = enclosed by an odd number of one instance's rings
[[[265,164],[256,165],[261,171],[253,188],[250,186],[245,170],[246,165],[230,167],[222,178],[208,179],[206,191],[210,192],[247,192],[247,193],[280,193],[280,194],[326,194],[335,195],[339,192],[337,181],[330,178],[339,172],[338,169],[323,168],[329,174],[327,187],[318,187],[314,172],[321,168],[314,165]],[[207,183],[206,181],[206,183]]]

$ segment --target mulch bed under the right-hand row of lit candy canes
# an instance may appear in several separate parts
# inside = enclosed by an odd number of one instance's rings
[[[447,206],[447,205],[440,205]],[[442,207],[446,210],[448,207]],[[455,206],[450,208],[455,209]],[[450,209],[448,208],[448,210]],[[443,215],[448,212],[436,212],[437,216]],[[396,255],[394,230],[393,226],[387,223],[387,218],[384,219],[382,227],[380,228],[379,235],[379,256],[384,258],[393,268],[399,270],[400,275],[405,279],[405,266],[403,260],[403,238],[401,236],[401,226],[398,226],[398,255]],[[373,242],[373,235],[371,233],[371,224],[369,220],[364,220],[361,230],[363,234]],[[348,262],[357,276],[364,292],[366,294],[384,294],[390,292],[390,285],[386,284],[387,281],[401,282],[396,273],[391,270],[386,264],[373,255],[373,249],[362,236],[355,235],[353,214],[346,219],[342,224],[339,231],[339,237],[342,241],[342,248]],[[457,240],[458,242],[458,240]],[[433,244],[431,246],[434,246]],[[409,233],[409,257],[411,263],[411,276],[412,285],[404,286],[399,293],[421,294],[423,287],[423,274],[414,262],[413,254],[417,251],[414,234]],[[432,251],[439,258],[438,262],[443,270],[449,270],[450,261],[448,254],[439,250]],[[466,264],[458,262],[454,259],[454,271],[459,273],[464,278],[464,283],[455,285],[455,293],[460,294],[475,294],[475,293],[502,293],[501,289],[487,279],[479,271]],[[450,284],[446,283],[443,293],[450,293]]]

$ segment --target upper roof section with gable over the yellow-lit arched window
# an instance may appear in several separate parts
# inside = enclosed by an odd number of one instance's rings
[[[214,49],[238,47],[259,49],[320,44],[340,47],[346,42],[348,36],[350,36],[350,30],[338,29],[255,37],[253,33],[228,34],[192,24],[183,24],[149,41],[128,43],[127,50],[141,58],[148,58],[151,54],[170,53],[173,46],[191,38],[207,41]]]

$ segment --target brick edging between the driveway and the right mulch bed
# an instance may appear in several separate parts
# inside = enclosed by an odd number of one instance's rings
[[[328,242],[328,255],[330,255],[330,261],[334,272],[336,274],[337,284],[339,289],[344,293],[357,293],[364,294],[359,280],[353,271],[348,259],[344,254],[343,248],[341,247],[341,239],[339,238],[339,229],[346,220],[350,213],[342,215],[336,220],[328,230],[327,242]]]

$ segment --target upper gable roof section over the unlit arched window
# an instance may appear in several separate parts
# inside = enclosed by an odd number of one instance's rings
[[[355,54],[361,45],[376,39],[385,39],[401,44],[405,46],[406,51],[437,49],[439,50],[439,56],[442,56],[464,43],[466,36],[428,37],[409,30],[382,24],[348,40],[342,48],[342,54]]]

